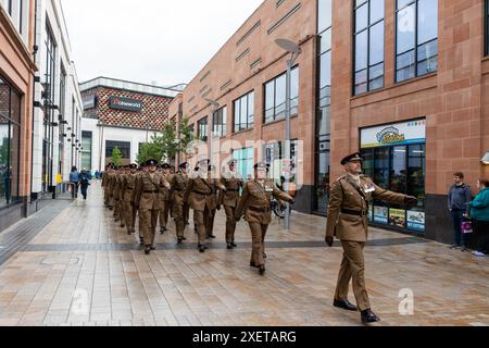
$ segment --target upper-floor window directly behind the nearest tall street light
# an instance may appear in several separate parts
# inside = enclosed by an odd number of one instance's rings
[[[299,109],[299,67],[292,69],[290,84],[290,115],[296,115]],[[265,84],[265,123],[286,117],[286,74]]]

